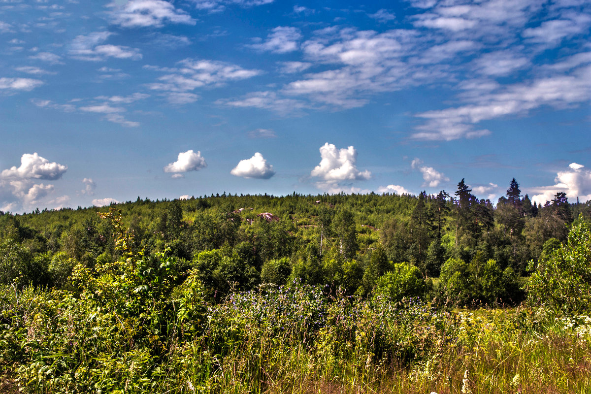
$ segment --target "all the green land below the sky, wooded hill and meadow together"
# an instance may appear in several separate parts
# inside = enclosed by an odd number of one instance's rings
[[[0,392],[589,392],[589,224],[515,179],[0,212]]]

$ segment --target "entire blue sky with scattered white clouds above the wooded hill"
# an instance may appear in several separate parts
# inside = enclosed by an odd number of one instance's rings
[[[584,0],[0,0],[0,210],[591,200]]]

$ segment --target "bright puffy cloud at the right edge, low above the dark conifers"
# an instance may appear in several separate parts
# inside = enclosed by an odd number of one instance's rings
[[[568,169],[558,171],[554,178],[554,185],[531,187],[528,192],[536,193],[531,197],[532,201],[544,205],[546,201],[553,200],[556,193],[566,193],[570,202],[584,203],[591,200],[591,170],[579,163],[571,163]]]

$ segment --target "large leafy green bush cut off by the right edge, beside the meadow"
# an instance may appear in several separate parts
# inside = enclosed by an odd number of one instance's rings
[[[548,242],[528,282],[528,302],[551,310],[582,314],[591,311],[591,229],[580,222],[566,245]],[[546,247],[547,246],[547,247]],[[552,250],[550,252],[550,250]]]

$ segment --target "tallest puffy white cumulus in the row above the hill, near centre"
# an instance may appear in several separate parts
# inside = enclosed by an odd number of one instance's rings
[[[310,173],[313,177],[320,177],[325,181],[368,180],[371,172],[359,171],[355,166],[357,151],[353,146],[337,149],[335,145],[326,142],[320,146],[320,164]]]

